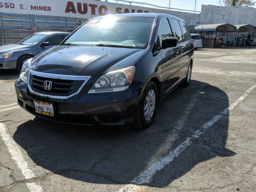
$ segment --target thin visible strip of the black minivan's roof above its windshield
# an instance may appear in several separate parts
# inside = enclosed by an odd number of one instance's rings
[[[109,17],[109,15],[103,15],[95,18],[104,18],[104,17]],[[122,13],[122,14],[111,14],[111,17],[154,17],[154,18],[171,17],[171,18],[183,21],[182,19],[175,17],[174,15],[166,14],[166,13]]]

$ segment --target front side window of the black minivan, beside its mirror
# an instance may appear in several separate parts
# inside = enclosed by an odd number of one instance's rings
[[[167,18],[161,20],[157,37],[157,47],[162,47],[162,41],[165,37],[172,37],[172,31]]]

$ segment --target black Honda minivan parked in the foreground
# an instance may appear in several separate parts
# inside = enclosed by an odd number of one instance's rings
[[[189,85],[193,59],[185,21],[157,13],[106,15],[27,60],[15,90],[19,105],[43,119],[145,129],[158,102]]]

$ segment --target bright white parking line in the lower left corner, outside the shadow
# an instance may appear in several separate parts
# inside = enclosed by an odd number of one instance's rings
[[[7,128],[4,123],[0,123],[0,136],[3,139],[6,147],[8,148],[12,159],[21,170],[23,176],[26,179],[35,178],[36,175],[33,173],[33,171],[29,169],[28,163],[25,161],[22,151],[19,149],[17,143],[12,139],[11,135],[7,132]],[[27,182],[26,185],[31,192],[43,191],[43,188],[39,183]]]

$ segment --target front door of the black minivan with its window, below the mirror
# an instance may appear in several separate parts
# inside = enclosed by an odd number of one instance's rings
[[[179,42],[183,41],[181,34],[177,34]],[[161,49],[162,40],[164,37],[174,37],[173,31],[171,30],[170,23],[167,18],[161,20],[158,41]],[[178,42],[178,43],[179,43]],[[163,90],[167,94],[180,79],[179,75],[179,58],[180,58],[180,46],[169,47],[161,49],[162,63],[163,63]]]

